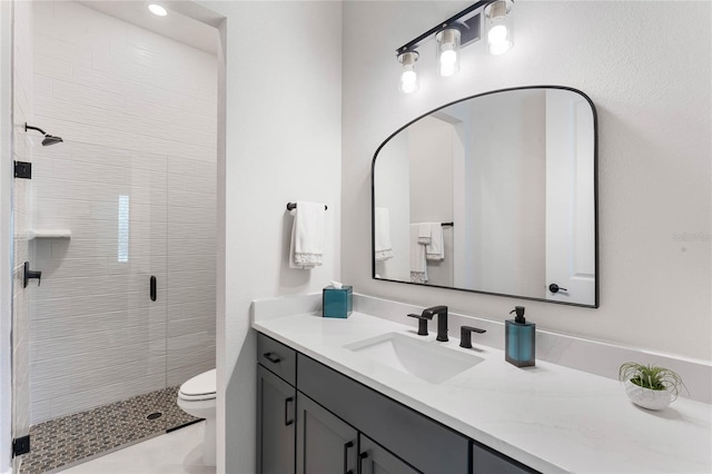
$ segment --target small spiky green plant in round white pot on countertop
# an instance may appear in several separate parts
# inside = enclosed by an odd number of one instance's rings
[[[619,381],[627,397],[637,406],[663,409],[678,398],[685,385],[674,371],[636,362],[626,362],[619,369]]]

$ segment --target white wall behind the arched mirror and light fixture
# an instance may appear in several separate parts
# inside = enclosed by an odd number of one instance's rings
[[[710,240],[675,239],[711,231],[712,6],[516,2],[512,51],[490,57],[474,45],[445,79],[426,45],[421,90],[399,93],[395,49],[467,4],[344,4],[343,279],[359,293],[498,320],[524,304],[541,328],[712,359]],[[372,280],[369,164],[380,142],[442,103],[546,83],[583,90],[599,112],[601,307]]]

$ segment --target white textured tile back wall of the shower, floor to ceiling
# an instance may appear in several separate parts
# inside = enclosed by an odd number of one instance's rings
[[[33,121],[65,142],[32,148],[32,225],[72,233],[32,244],[38,423],[215,367],[217,58],[73,2],[33,21]]]

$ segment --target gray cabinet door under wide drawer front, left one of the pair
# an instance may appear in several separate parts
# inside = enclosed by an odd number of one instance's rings
[[[297,392],[297,474],[356,474],[358,432]]]

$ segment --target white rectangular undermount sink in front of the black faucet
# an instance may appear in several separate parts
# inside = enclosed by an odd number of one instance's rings
[[[439,344],[388,333],[344,347],[431,384],[442,384],[484,361],[474,354],[463,354]]]

